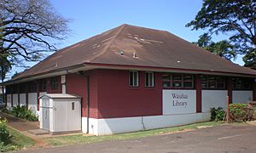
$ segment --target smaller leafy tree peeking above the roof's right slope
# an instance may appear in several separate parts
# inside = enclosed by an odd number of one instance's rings
[[[212,42],[212,37],[208,36],[206,33],[199,37],[197,42],[193,42],[197,44],[197,46],[201,48],[205,48],[210,51],[212,54],[217,54],[218,56],[224,59],[236,59],[237,56],[237,46],[231,44],[227,40]]]

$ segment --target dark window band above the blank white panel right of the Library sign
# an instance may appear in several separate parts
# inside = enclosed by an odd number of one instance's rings
[[[211,88],[224,89],[225,88],[225,77],[201,76],[201,88],[203,88],[203,89],[211,89]]]

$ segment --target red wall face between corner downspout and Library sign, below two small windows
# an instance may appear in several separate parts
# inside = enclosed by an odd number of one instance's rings
[[[97,70],[98,118],[162,115],[161,75],[154,73],[154,88],[145,88],[144,71],[139,87],[129,87],[129,71]]]

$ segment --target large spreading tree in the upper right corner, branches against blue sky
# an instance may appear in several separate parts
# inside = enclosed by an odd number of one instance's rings
[[[251,54],[256,46],[255,10],[254,0],[204,0],[195,20],[186,26],[192,26],[192,30],[207,29],[209,35],[229,34],[230,41],[239,44],[241,54]]]

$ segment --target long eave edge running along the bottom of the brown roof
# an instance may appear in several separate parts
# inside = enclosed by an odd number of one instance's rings
[[[180,68],[167,68],[167,67],[154,67],[154,66],[141,66],[141,65],[110,65],[110,64],[99,64],[99,63],[84,63],[81,65],[73,65],[66,68],[56,69],[53,71],[46,71],[38,73],[36,75],[19,77],[14,80],[0,83],[0,85],[11,85],[20,82],[29,82],[32,80],[42,79],[46,77],[55,77],[66,75],[68,73],[75,73],[78,71],[89,71],[93,69],[112,69],[112,70],[137,70],[137,71],[158,71],[158,72],[176,72],[176,73],[191,73],[191,74],[202,74],[202,75],[219,75],[229,77],[256,77],[253,74],[244,74],[236,72],[225,72],[225,71],[207,71],[207,70],[192,70],[192,69],[180,69]]]

